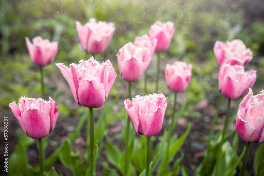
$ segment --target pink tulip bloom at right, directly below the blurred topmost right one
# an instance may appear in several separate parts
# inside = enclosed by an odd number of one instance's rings
[[[243,97],[256,81],[256,70],[245,72],[241,65],[223,64],[218,76],[218,88],[224,96],[237,99]]]

